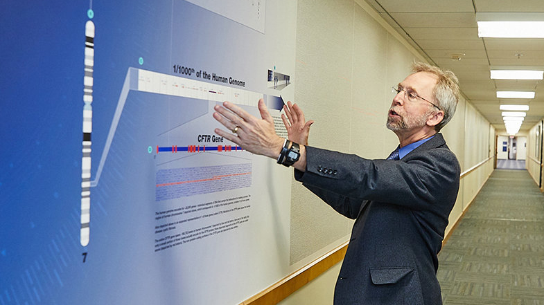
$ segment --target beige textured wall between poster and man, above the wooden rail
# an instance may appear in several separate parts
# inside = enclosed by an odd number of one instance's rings
[[[309,144],[385,158],[398,139],[385,128],[391,86],[418,59],[353,0],[298,2],[295,101],[315,120]],[[353,221],[293,183],[291,264],[346,241]]]

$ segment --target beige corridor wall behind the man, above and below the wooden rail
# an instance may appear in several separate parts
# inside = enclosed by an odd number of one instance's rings
[[[307,119],[315,120],[309,144],[384,158],[398,145],[394,133],[385,128],[394,97],[390,88],[423,57],[362,0],[299,0],[297,10],[293,83],[295,102]],[[493,154],[495,130],[464,98],[443,133],[462,171]],[[448,230],[492,170],[493,159],[462,179]],[[352,223],[294,181],[292,266],[304,266],[349,239]],[[337,264],[280,304],[332,304],[339,270]]]

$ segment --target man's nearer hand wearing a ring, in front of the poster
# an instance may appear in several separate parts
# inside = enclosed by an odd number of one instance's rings
[[[213,113],[213,118],[231,130],[231,132],[227,132],[216,129],[215,132],[219,136],[227,138],[227,140],[240,145],[240,147],[253,154],[274,159],[278,158],[284,139],[276,134],[274,120],[268,112],[263,99],[258,100],[258,111],[261,113],[261,119],[254,117],[231,102],[224,102],[222,107],[216,105],[213,109],[217,111]],[[235,129],[236,133],[234,133]]]

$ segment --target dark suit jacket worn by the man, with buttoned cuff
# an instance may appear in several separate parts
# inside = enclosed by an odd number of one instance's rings
[[[442,304],[437,254],[459,190],[460,167],[441,133],[402,160],[368,160],[306,147],[295,178],[356,219],[335,304]]]

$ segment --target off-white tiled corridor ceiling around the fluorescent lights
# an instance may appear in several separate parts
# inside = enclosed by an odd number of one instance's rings
[[[544,69],[544,39],[479,38],[476,12],[544,12],[543,0],[365,0],[431,64],[459,77],[465,97],[505,132],[500,104],[529,104],[520,132],[544,118],[541,80],[491,80],[490,68]],[[535,91],[532,100],[496,91]]]

